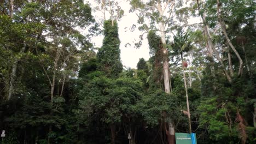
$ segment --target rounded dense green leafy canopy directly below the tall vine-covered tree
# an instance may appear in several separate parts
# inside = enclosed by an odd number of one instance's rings
[[[80,92],[80,113],[86,116],[100,116],[104,123],[121,122],[121,118],[132,115],[132,106],[142,96],[142,83],[133,78],[95,77]],[[83,118],[83,121],[93,119]]]

